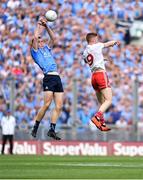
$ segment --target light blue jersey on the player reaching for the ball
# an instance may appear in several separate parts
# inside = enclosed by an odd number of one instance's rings
[[[57,72],[57,64],[55,63],[51,49],[47,45],[37,50],[31,48],[31,56],[44,74]]]

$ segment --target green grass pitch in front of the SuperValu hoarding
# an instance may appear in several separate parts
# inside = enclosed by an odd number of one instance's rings
[[[143,158],[1,155],[0,179],[143,179]]]

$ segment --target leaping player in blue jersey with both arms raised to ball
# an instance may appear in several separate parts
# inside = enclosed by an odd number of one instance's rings
[[[52,100],[54,100],[55,108],[52,111],[50,129],[47,135],[53,139],[60,140],[61,138],[55,133],[55,127],[63,106],[63,86],[57,71],[57,64],[51,51],[55,38],[54,32],[47,26],[46,23],[46,18],[40,17],[31,43],[31,56],[44,74],[44,105],[40,108],[35,117],[35,124],[33,126],[31,135],[36,137],[40,121],[44,117]],[[48,42],[42,37],[42,32],[44,29],[46,29],[50,37]]]

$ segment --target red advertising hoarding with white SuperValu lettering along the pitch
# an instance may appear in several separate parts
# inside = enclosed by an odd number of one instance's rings
[[[1,150],[0,142],[0,150]],[[9,144],[5,147],[8,154]],[[143,156],[142,142],[15,141],[14,154],[59,156]]]

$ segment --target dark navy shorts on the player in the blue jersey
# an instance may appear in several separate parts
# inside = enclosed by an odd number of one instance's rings
[[[59,75],[44,75],[43,91],[64,92],[61,78]]]

